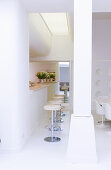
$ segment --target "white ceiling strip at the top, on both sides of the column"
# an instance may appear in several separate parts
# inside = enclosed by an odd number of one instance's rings
[[[29,12],[73,12],[74,0],[21,0]],[[93,0],[93,12],[111,12],[111,0]]]

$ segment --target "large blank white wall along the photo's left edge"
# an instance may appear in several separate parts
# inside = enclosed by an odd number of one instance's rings
[[[28,15],[16,0],[0,1],[1,150],[28,137]]]

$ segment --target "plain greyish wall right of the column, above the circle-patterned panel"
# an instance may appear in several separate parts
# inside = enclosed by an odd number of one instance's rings
[[[110,59],[111,59],[111,19],[93,18],[93,60],[110,60]]]

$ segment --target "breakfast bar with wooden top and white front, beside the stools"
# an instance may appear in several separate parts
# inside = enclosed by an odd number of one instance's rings
[[[46,115],[43,109],[44,105],[58,93],[58,89],[58,81],[44,82],[43,84],[36,83],[29,87],[30,115],[33,124],[36,125],[36,127],[39,126],[39,122],[43,121]]]

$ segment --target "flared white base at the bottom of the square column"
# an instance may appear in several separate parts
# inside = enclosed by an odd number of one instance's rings
[[[96,163],[93,117],[71,117],[67,158],[70,163]]]

